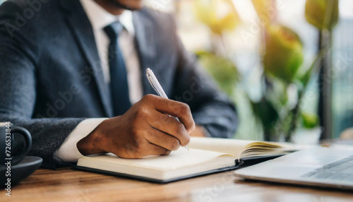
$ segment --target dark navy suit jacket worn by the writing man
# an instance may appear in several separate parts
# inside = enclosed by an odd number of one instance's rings
[[[78,0],[10,0],[0,6],[0,121],[32,134],[30,155],[43,166],[65,165],[53,153],[85,118],[112,117],[90,21]],[[196,124],[231,137],[234,106],[196,65],[176,35],[171,16],[133,11],[143,93],[155,94],[152,69],[169,98],[186,102]]]

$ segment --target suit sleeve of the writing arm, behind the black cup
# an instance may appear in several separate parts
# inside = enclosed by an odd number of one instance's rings
[[[0,122],[11,121],[28,129],[32,135],[28,155],[39,156],[42,167],[54,169],[66,165],[53,158],[54,152],[83,119],[32,118],[37,95],[35,51],[29,48],[31,41],[24,33],[29,28],[16,25],[18,11],[20,8],[11,2],[0,6]],[[16,153],[23,141],[15,138]]]

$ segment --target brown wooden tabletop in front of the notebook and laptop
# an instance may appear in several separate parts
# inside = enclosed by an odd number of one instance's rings
[[[0,201],[353,201],[349,191],[243,181],[233,172],[153,184],[71,168],[37,170]]]

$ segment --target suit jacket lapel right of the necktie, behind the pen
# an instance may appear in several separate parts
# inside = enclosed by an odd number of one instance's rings
[[[134,11],[133,26],[135,28],[136,49],[140,59],[143,94],[156,94],[145,75],[146,69],[150,68],[158,77],[157,66],[154,65],[157,52],[152,22],[143,11]]]

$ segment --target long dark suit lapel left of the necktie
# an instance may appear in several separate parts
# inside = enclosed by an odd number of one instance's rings
[[[102,105],[107,117],[113,116],[110,88],[104,81],[100,57],[95,43],[90,20],[85,14],[78,0],[61,0],[61,6],[68,11],[67,20],[73,35],[75,35],[80,48],[90,64],[90,73],[95,78],[100,93]]]

